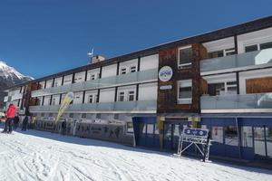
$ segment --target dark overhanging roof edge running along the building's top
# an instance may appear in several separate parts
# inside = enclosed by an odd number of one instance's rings
[[[57,72],[55,74],[48,75],[48,76],[45,76],[45,77],[42,77],[39,79],[35,79],[33,81],[25,81],[24,83],[16,84],[14,86],[8,87],[5,90],[10,90],[10,89],[13,89],[13,88],[16,88],[16,87],[19,87],[19,86],[22,86],[22,85],[25,85],[28,83],[32,83],[32,82],[50,80],[55,77],[60,77],[63,75],[72,74],[74,72],[80,72],[80,71],[86,71],[86,70],[90,70],[90,69],[99,68],[101,66],[110,65],[110,64],[113,64],[116,62],[129,61],[131,59],[136,59],[139,57],[148,56],[148,55],[158,53],[160,50],[184,46],[184,45],[188,45],[188,44],[192,44],[192,43],[207,43],[207,42],[216,41],[219,39],[227,38],[227,37],[242,34],[242,33],[250,33],[250,32],[254,32],[254,31],[258,31],[261,29],[269,28],[269,27],[272,27],[272,15],[269,15],[267,17],[262,17],[262,18],[259,18],[259,19],[253,20],[253,21],[249,21],[247,23],[229,26],[227,28],[215,30],[212,32],[201,33],[198,35],[189,36],[189,37],[182,38],[180,40],[172,41],[169,43],[162,43],[162,44],[152,46],[152,47],[140,50],[140,51],[130,52],[130,53],[123,54],[123,55],[120,55],[117,57],[106,59],[105,61],[102,61],[102,62],[96,62],[96,63],[84,65],[81,67],[77,67],[77,68],[74,68],[71,70]]]

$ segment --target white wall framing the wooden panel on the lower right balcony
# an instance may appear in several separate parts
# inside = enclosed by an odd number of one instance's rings
[[[240,94],[247,93],[247,79],[272,77],[272,69],[262,69],[257,71],[242,71],[239,73]]]

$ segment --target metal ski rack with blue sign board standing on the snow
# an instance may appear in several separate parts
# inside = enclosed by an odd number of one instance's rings
[[[186,148],[183,148],[183,142],[187,142],[189,145]],[[209,140],[209,129],[183,129],[180,134],[178,153],[175,155],[181,157],[181,154],[193,145],[199,149],[199,152],[203,157],[203,162],[209,160],[209,147],[211,145]],[[199,145],[202,145],[202,149],[199,148]]]

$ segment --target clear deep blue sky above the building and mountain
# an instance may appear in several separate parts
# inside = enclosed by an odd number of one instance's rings
[[[272,13],[271,0],[0,0],[0,59],[43,77]]]

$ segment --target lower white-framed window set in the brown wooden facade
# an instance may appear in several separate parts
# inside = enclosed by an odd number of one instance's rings
[[[191,104],[191,80],[178,81],[178,103]]]

